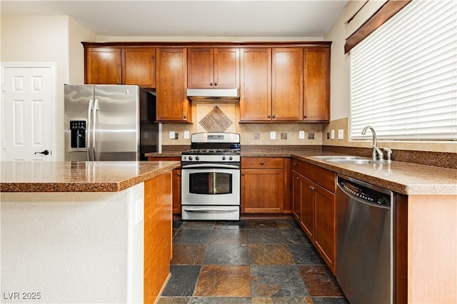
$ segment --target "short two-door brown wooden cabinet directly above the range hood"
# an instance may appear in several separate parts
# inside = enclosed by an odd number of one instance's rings
[[[239,75],[239,49],[189,49],[189,88],[238,88]]]

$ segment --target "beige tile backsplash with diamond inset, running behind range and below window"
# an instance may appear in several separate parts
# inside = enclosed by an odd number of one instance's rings
[[[219,110],[215,110],[215,107]],[[351,141],[348,139],[347,117],[330,121],[330,123],[239,123],[239,103],[193,103],[192,112],[194,123],[162,124],[162,145],[190,145],[191,140],[184,138],[184,131],[206,132],[200,123],[206,116],[209,116],[210,120],[224,116],[224,120],[232,122],[231,124],[227,121],[222,123],[226,128],[225,132],[240,133],[241,145],[323,145],[371,148],[371,140]],[[206,121],[206,123],[211,123],[211,121]],[[334,139],[331,139],[332,130]],[[338,139],[338,130],[343,131],[343,139]],[[178,133],[179,139],[170,139],[169,131]],[[300,131],[304,131],[302,136],[300,133],[303,132]],[[271,132],[275,132],[275,139],[271,139]],[[393,150],[457,153],[457,141],[378,141],[378,146]]]

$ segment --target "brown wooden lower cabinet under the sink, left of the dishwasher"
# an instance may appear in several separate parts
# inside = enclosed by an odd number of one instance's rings
[[[293,217],[336,274],[336,176],[292,159]]]

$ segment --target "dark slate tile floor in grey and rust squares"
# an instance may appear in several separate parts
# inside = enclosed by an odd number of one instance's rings
[[[174,221],[166,303],[348,303],[293,220]]]

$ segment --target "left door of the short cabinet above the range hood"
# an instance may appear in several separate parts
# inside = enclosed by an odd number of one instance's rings
[[[189,88],[214,88],[214,49],[189,49]]]

